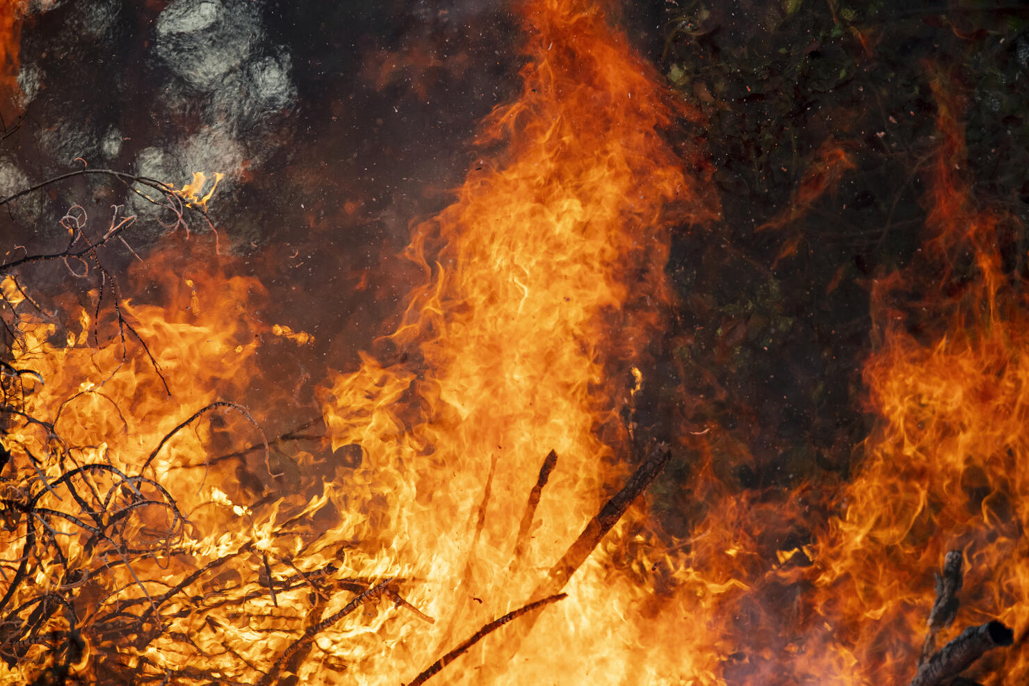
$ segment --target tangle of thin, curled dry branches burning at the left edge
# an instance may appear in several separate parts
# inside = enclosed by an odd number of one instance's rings
[[[81,173],[98,172],[75,174]],[[130,180],[127,175],[115,176]],[[172,193],[168,203],[181,221],[187,201],[170,187],[158,185],[158,189]],[[0,198],[0,206],[12,197]],[[194,209],[203,214],[202,209]],[[0,336],[0,538],[8,551],[0,559],[0,659],[8,669],[19,670],[27,681],[38,684],[81,679],[85,675],[74,665],[86,663],[99,684],[188,680],[252,684],[267,678],[270,667],[279,672],[290,669],[315,636],[325,630],[326,622],[346,614],[344,608],[322,620],[321,613],[308,613],[313,618],[310,625],[297,625],[296,599],[307,594],[297,591],[310,590],[311,598],[325,601],[350,592],[362,599],[360,602],[381,593],[400,611],[432,622],[395,584],[386,586],[379,578],[341,578],[342,571],[329,564],[312,569],[301,562],[306,547],[293,553],[295,563],[275,554],[278,537],[297,540],[297,518],[304,519],[299,513],[280,518],[269,532],[270,540],[260,547],[252,538],[241,536],[217,553],[198,552],[193,538],[198,528],[189,519],[192,513],[187,516],[180,510],[172,492],[162,483],[168,475],[164,469],[154,469],[154,461],[202,418],[214,410],[229,410],[241,414],[259,436],[259,442],[240,455],[263,452],[265,467],[274,475],[270,443],[246,408],[223,401],[209,403],[166,433],[152,450],[135,456],[75,445],[61,435],[62,412],[71,400],[85,393],[101,398],[109,405],[110,417],[126,431],[131,430],[117,401],[102,388],[73,395],[51,417],[34,416],[49,410],[33,407],[32,386],[49,380],[13,362],[12,346],[25,335],[26,316],[15,309],[19,301],[25,302],[21,308],[31,305],[42,317],[56,316],[22,285],[26,272],[41,262],[63,261],[74,278],[95,280],[91,287],[98,287],[100,297],[92,338],[98,347],[103,342],[97,328],[100,308],[113,310],[117,322],[113,337],[120,337],[121,360],[115,361],[113,370],[104,370],[108,378],[128,361],[127,338],[135,336],[153,371],[165,382],[145,341],[122,315],[120,289],[102,263],[105,246],[120,240],[133,219],[119,216],[116,209],[110,227],[94,232],[88,230],[84,210],[74,206],[62,219],[71,237],[63,249],[0,265],[0,276],[7,280],[4,293],[0,293],[0,333],[4,334]],[[20,297],[6,297],[11,293]],[[306,437],[289,433],[276,442]],[[202,456],[199,464],[187,466],[206,469],[211,464]],[[262,503],[251,507],[256,510]],[[251,525],[258,525],[253,521],[258,515],[249,510],[246,516],[252,519]],[[283,514],[286,512],[280,508],[278,516]],[[329,551],[328,558],[333,556],[339,557],[339,551],[334,555]],[[218,635],[226,629],[224,617],[252,615],[255,610],[249,608],[261,608],[270,597],[268,608],[260,610],[260,620],[278,622],[282,627],[278,630],[292,643],[278,661],[261,666],[241,654],[239,646],[218,640]],[[288,604],[282,602],[284,597],[289,598]],[[351,606],[356,608],[360,602]],[[196,634],[175,628],[188,626],[191,617],[203,619],[202,634],[214,636],[202,643]],[[169,670],[156,649],[168,641],[186,648],[196,660]]]

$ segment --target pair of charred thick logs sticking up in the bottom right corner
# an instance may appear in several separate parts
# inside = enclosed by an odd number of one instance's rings
[[[942,574],[936,575],[936,600],[929,613],[929,631],[922,646],[918,672],[909,686],[957,686],[974,684],[959,675],[988,651],[999,646],[1009,646],[1015,634],[999,621],[988,621],[969,626],[946,646],[929,655],[935,647],[936,634],[951,625],[957,615],[958,591],[962,584],[961,552],[947,553]]]

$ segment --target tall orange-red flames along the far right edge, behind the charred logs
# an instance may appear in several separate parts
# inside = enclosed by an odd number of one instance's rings
[[[813,606],[854,646],[852,683],[911,677],[911,637],[924,631],[932,598],[926,570],[950,549],[962,551],[968,570],[964,624],[996,618],[1016,636],[1029,627],[1029,481],[1019,468],[1029,402],[1024,284],[1001,267],[1010,220],[978,207],[960,170],[960,99],[942,77],[934,88],[942,142],[926,263],[877,285],[877,348],[864,377],[882,422],[815,557]],[[918,282],[935,288],[909,312],[892,304],[894,291]],[[998,652],[993,676],[980,681],[1029,678],[1024,654]]]

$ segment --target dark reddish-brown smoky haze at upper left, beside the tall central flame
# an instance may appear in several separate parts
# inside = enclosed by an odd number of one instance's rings
[[[273,375],[317,376],[355,359],[410,290],[396,255],[452,200],[477,121],[513,95],[516,34],[500,2],[37,0],[0,193],[83,160],[179,186],[224,174],[210,205],[222,251],[269,289],[261,317],[315,336]],[[51,188],[12,204],[8,245],[51,250],[74,204],[97,227],[112,205],[138,215],[127,241],[144,259],[168,232],[167,212],[106,178]],[[105,255],[114,273],[135,259]],[[55,290],[66,279],[55,272]],[[126,295],[159,298],[141,284]]]

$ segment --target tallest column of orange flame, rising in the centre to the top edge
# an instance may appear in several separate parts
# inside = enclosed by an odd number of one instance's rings
[[[324,396],[333,449],[362,456],[352,479],[367,493],[347,494],[346,507],[368,512],[362,537],[383,540],[425,579],[415,604],[439,629],[403,636],[422,659],[529,600],[540,570],[626,473],[618,417],[635,392],[613,380],[631,377],[660,321],[662,227],[710,216],[655,134],[672,111],[651,70],[600,8],[544,0],[522,16],[522,95],[482,135],[506,150],[468,173],[458,202],[419,226],[409,250],[427,280],[384,342],[410,361],[365,356]],[[557,466],[513,559],[517,522],[552,449]],[[383,493],[391,502],[380,504]],[[450,678],[537,683],[560,664],[602,680],[603,660],[620,664],[608,676],[620,682],[644,630],[626,623],[640,595],[626,586],[591,561],[517,663],[492,661],[497,644],[487,640],[463,658],[474,670]],[[571,642],[580,649],[554,654]]]

